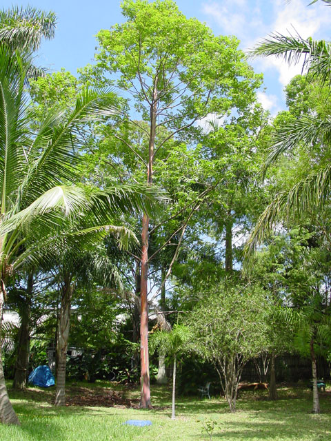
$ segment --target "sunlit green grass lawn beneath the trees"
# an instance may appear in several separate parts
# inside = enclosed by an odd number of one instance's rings
[[[10,384],[8,384],[10,386]],[[83,389],[81,389],[83,388]],[[329,390],[330,390],[329,386]],[[68,386],[68,396],[116,391],[135,403],[139,391],[117,384],[97,382]],[[80,391],[80,392],[78,392]],[[266,391],[245,392],[237,402],[237,413],[229,413],[223,399],[177,398],[177,418],[170,420],[170,389],[152,385],[152,410],[114,407],[62,409],[52,406],[54,391],[29,388],[18,393],[9,389],[21,427],[0,425],[1,441],[208,441],[201,433],[201,420],[216,420],[212,440],[331,441],[331,391],[321,393],[320,415],[312,415],[312,392],[305,387],[281,387],[279,400],[266,400]],[[151,420],[150,427],[123,425],[129,419]],[[199,421],[200,420],[200,421]]]

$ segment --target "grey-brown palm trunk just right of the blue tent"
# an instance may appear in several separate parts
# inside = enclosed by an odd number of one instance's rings
[[[61,308],[57,329],[57,389],[55,391],[55,406],[66,405],[66,365],[67,365],[67,350],[68,339],[70,331],[70,307],[72,298],[72,278],[66,276],[64,279]]]

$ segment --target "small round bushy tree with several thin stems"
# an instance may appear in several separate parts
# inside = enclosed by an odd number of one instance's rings
[[[259,286],[228,283],[215,287],[190,314],[191,347],[213,363],[231,412],[243,367],[265,347],[267,309]]]

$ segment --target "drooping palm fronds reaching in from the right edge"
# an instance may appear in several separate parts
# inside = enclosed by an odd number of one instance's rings
[[[312,1],[315,3],[317,0]],[[329,0],[323,0],[331,4]],[[331,43],[325,40],[303,39],[296,36],[271,34],[270,39],[263,40],[253,50],[250,57],[282,57],[289,65],[302,63],[307,70],[308,79],[323,85],[331,86]],[[288,154],[295,147],[302,145],[324,145],[330,150],[331,116],[303,115],[293,122],[287,123],[274,134],[269,155],[265,161],[265,169],[279,158]],[[325,161],[316,164],[314,170],[307,174],[292,188],[280,192],[265,208],[254,228],[246,250],[252,251],[261,243],[277,220],[289,221],[293,216],[301,217],[308,212],[317,212],[325,202],[329,201],[331,185],[331,165]]]

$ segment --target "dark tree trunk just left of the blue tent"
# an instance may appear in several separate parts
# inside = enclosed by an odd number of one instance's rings
[[[29,367],[30,356],[30,318],[31,318],[31,299],[33,289],[33,273],[28,274],[26,286],[26,298],[21,308],[21,326],[19,328],[19,347],[17,349],[17,359],[15,363],[14,389],[26,389],[26,374]]]

